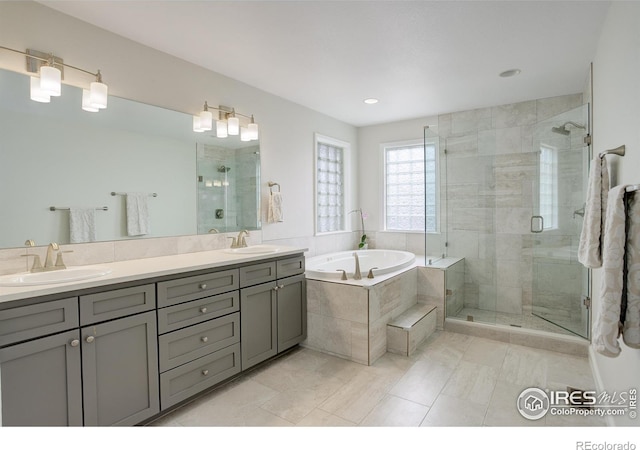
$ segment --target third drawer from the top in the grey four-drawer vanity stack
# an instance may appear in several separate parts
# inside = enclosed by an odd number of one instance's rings
[[[158,338],[160,372],[240,342],[240,313],[210,320]]]

